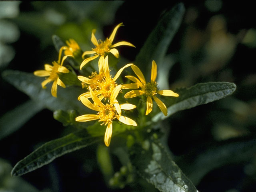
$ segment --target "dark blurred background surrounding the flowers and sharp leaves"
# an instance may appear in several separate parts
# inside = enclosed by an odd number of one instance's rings
[[[178,1],[152,4],[136,4],[134,1],[1,1],[0,72],[32,73],[42,69],[45,63],[57,60],[53,34],[63,41],[73,38],[85,51],[92,48],[92,29],[96,28],[96,37],[104,40],[120,22],[124,27],[118,30],[114,41],[125,40],[136,46],[118,49],[121,62],[133,62],[161,15],[176,3]],[[202,82],[224,81],[234,82],[237,90],[223,100],[172,115],[164,122],[170,127],[168,146],[178,166],[199,191],[255,192],[256,150],[237,160],[230,161],[232,156],[228,156],[224,162],[212,162],[214,166],[204,173],[189,170],[184,165],[196,164],[199,158],[195,157],[217,146],[225,148],[230,140],[246,138],[240,145],[232,145],[232,150],[238,153],[244,143],[255,141],[255,8],[249,2],[219,0],[185,2],[184,5],[186,12],[182,24],[164,60],[169,67],[162,70],[169,74],[169,85],[162,86],[175,90]],[[30,119],[10,125],[15,131],[1,132],[3,126],[8,126],[8,122],[4,122],[6,116],[29,97],[2,77],[0,89],[0,192],[154,191],[154,187],[136,174],[125,186],[110,185],[99,168],[96,144],[66,154],[19,178],[12,178],[10,171],[19,160],[45,142],[66,135],[68,130],[54,120],[50,110],[40,109]],[[18,121],[19,114],[11,119],[12,124]],[[193,154],[191,158],[186,156]],[[180,160],[183,156],[186,156],[186,162]],[[111,161],[114,172],[119,171],[122,164],[114,154],[111,154]]]

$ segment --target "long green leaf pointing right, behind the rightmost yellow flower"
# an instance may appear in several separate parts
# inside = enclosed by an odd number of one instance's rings
[[[166,106],[169,106],[167,108],[168,115],[164,116],[164,114],[160,112],[152,118],[152,122],[168,118],[170,115],[180,110],[193,108],[198,105],[225,98],[226,96],[231,95],[235,90],[236,85],[229,82],[199,83],[190,88],[180,88],[174,91],[180,96],[175,98],[170,97],[168,101],[166,100],[165,102]]]

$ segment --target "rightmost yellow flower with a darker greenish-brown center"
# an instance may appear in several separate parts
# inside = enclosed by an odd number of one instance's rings
[[[153,108],[152,98],[153,98],[156,104],[158,105],[158,107],[160,108],[160,110],[163,112],[163,114],[167,116],[167,108],[165,104],[160,99],[158,99],[156,95],[160,94],[163,96],[174,96],[174,97],[178,97],[179,95],[177,93],[174,93],[171,90],[158,90],[157,82],[156,82],[156,74],[157,74],[156,68],[157,68],[156,62],[153,60],[150,82],[146,82],[141,70],[136,65],[132,65],[132,70],[138,76],[139,79],[134,76],[125,76],[125,77],[135,82],[141,88],[141,90],[129,91],[124,95],[124,98],[132,98],[140,95],[145,95],[147,97],[146,115],[148,115],[152,111],[152,108]]]

